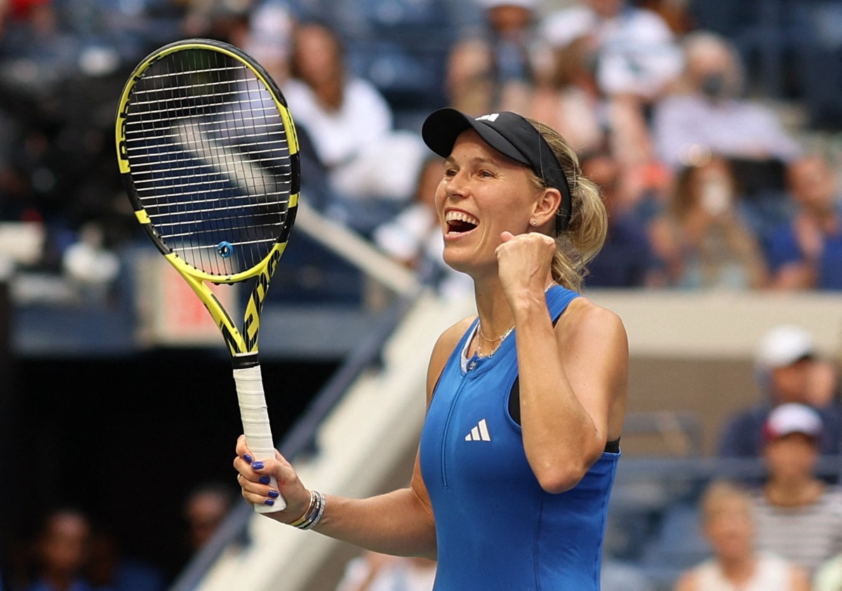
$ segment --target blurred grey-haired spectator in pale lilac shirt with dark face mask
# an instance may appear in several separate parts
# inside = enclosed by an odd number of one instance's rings
[[[728,40],[698,30],[685,36],[683,48],[684,73],[653,109],[658,159],[677,170],[711,154],[727,158],[746,222],[755,236],[765,237],[791,213],[786,163],[801,146],[773,109],[745,96],[743,65]]]

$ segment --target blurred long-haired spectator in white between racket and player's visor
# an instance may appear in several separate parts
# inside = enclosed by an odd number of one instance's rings
[[[296,26],[290,73],[284,94],[327,167],[328,213],[369,235],[412,200],[424,143],[395,129],[381,93],[346,71],[340,39],[328,26]]]

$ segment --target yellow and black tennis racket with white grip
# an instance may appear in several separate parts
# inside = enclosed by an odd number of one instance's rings
[[[115,127],[120,176],[137,220],[210,311],[231,353],[248,447],[256,460],[274,457],[258,330],[301,182],[285,99],[236,47],[182,40],[131,73]],[[242,328],[209,287],[240,282],[253,283]],[[255,510],[285,506],[281,497]]]

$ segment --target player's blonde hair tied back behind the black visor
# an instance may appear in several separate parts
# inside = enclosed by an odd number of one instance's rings
[[[588,274],[588,264],[605,243],[608,233],[605,202],[599,187],[582,176],[578,156],[562,135],[541,121],[529,117],[525,119],[543,136],[568,179],[572,199],[570,223],[566,230],[554,236],[556,253],[552,258],[552,279],[568,290],[578,291]],[[538,187],[546,187],[534,172],[533,182]]]

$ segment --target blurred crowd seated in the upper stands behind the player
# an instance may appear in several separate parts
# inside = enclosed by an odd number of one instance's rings
[[[786,0],[3,0],[0,222],[39,229],[35,256],[8,256],[115,279],[138,236],[117,96],[148,52],[205,37],[280,84],[302,198],[404,264],[440,248],[424,114],[509,109],[561,130],[604,191],[586,287],[839,290],[839,155],[813,139],[842,128],[821,92],[840,19],[842,3]]]

